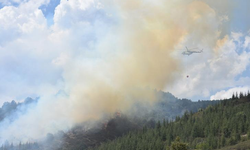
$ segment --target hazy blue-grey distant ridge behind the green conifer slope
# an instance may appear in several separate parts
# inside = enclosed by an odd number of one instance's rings
[[[157,91],[157,101],[153,105],[145,103],[136,103],[126,113],[129,118],[138,118],[146,120],[174,120],[176,116],[182,116],[186,111],[197,112],[199,109],[206,108],[209,105],[215,105],[219,101],[191,101],[189,99],[176,98],[169,92]]]

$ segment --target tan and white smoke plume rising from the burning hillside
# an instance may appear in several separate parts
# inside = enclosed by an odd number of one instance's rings
[[[97,3],[86,2],[84,9]],[[220,36],[220,16],[202,1],[105,0],[99,7],[114,23],[90,25],[98,31],[91,48],[65,48],[70,52],[53,62],[63,70],[61,91],[44,93],[25,114],[0,123],[2,143],[34,141],[105,114],[126,112],[135,102],[153,103],[152,89],[163,90],[182,71],[176,48],[186,43],[213,48]],[[56,23],[60,21],[55,28]]]

